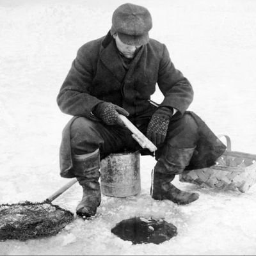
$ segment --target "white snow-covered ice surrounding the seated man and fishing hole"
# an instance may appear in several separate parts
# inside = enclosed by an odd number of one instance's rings
[[[59,175],[61,131],[70,119],[56,96],[77,49],[106,35],[125,1],[0,0],[0,204],[42,202],[68,182]],[[232,150],[256,154],[256,2],[250,0],[134,0],[148,8],[150,36],[166,44],[195,90],[189,110]],[[157,91],[153,97],[161,102]],[[141,193],[102,196],[97,216],[75,219],[52,237],[0,242],[1,255],[253,255],[256,186],[247,193],[175,185],[200,198],[179,206],[152,200],[152,157],[141,157]],[[75,212],[78,184],[54,200]],[[164,218],[178,235],[162,244],[136,244],[111,234],[121,220]]]

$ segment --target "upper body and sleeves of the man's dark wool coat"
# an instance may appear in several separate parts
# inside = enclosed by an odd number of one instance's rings
[[[178,109],[182,115],[193,100],[193,89],[174,67],[166,46],[150,39],[126,72],[115,40],[108,33],[79,49],[57,101],[61,111],[73,116],[90,118],[93,107],[107,101],[126,109],[129,118],[140,117],[151,108],[148,99],[156,83],[164,95],[161,106]]]

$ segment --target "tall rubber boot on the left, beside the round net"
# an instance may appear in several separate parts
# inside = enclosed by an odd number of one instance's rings
[[[100,205],[100,158],[99,149],[90,154],[74,155],[74,174],[83,188],[83,198],[76,207],[76,214],[82,218],[94,216]]]

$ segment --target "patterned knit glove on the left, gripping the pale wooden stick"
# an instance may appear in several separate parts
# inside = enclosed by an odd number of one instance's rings
[[[118,124],[124,126],[124,123],[119,118],[118,113],[124,116],[129,116],[129,113],[125,109],[116,106],[115,104],[112,104],[110,102],[101,102],[97,104],[92,113],[108,125]]]

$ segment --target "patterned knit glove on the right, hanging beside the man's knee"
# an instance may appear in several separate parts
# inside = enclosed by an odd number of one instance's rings
[[[173,108],[159,107],[152,115],[147,129],[147,138],[154,143],[160,145],[164,142],[170,118],[173,115]]]

